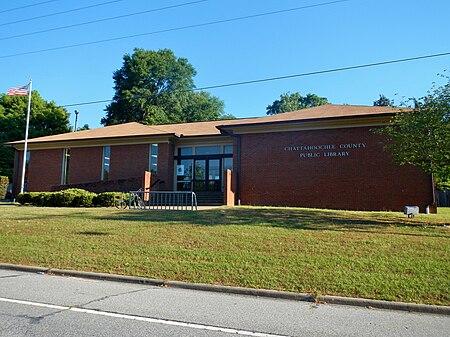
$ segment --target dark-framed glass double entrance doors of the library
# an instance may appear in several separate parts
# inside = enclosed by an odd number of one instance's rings
[[[221,159],[194,161],[194,191],[221,191]]]

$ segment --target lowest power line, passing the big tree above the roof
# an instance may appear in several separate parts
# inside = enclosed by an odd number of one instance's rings
[[[450,55],[450,52],[439,53],[439,54],[423,55],[423,56],[415,56],[415,57],[408,57],[408,58],[396,59],[396,60],[390,60],[390,61],[366,63],[366,64],[360,64],[360,65],[349,66],[349,67],[317,70],[317,71],[312,71],[312,72],[307,72],[307,73],[300,73],[300,74],[293,74],[293,75],[268,77],[268,78],[261,78],[261,79],[256,79],[256,80],[232,82],[232,83],[225,83],[225,84],[216,84],[216,85],[210,85],[210,86],[201,87],[201,88],[194,88],[192,90],[193,91],[201,91],[201,90],[207,90],[207,89],[235,87],[235,86],[239,86],[239,85],[255,84],[255,83],[270,82],[270,81],[279,81],[279,80],[285,80],[285,79],[295,78],[295,77],[306,77],[306,76],[313,76],[313,75],[320,75],[320,74],[327,74],[327,73],[335,73],[335,72],[340,72],[340,71],[348,71],[348,70],[355,70],[355,69],[361,69],[361,68],[383,66],[383,65],[388,65],[388,64],[395,64],[395,63],[402,63],[402,62],[424,60],[424,59],[430,59],[430,58],[442,57],[442,56],[449,56],[449,55]],[[175,91],[183,92],[183,91],[186,91],[186,90],[175,90]],[[108,99],[108,100],[99,100],[99,101],[90,101],[90,102],[82,102],[82,103],[65,104],[65,105],[61,105],[61,106],[64,107],[64,108],[67,108],[67,107],[80,106],[80,105],[108,103],[108,102],[111,102],[111,101],[112,101],[112,99]]]

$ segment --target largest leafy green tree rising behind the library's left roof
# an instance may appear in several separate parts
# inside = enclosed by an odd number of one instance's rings
[[[171,50],[134,49],[113,74],[115,94],[102,118],[103,125],[126,122],[167,124],[218,120],[224,103],[195,92],[194,67]]]

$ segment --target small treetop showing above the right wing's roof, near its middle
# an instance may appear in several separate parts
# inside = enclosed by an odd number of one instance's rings
[[[266,114],[275,115],[283,112],[312,108],[319,105],[328,104],[325,97],[319,97],[315,94],[307,94],[302,96],[298,92],[293,94],[287,92],[280,95],[280,99],[274,101],[266,108]]]

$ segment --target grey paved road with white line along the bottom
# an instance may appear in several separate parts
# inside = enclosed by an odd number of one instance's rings
[[[0,270],[0,336],[449,336],[450,317]]]

